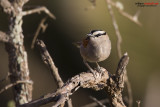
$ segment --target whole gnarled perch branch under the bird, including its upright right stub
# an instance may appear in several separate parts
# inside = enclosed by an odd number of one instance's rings
[[[56,103],[52,107],[57,107],[67,101],[69,96],[71,96],[80,87],[92,88],[97,91],[105,88],[110,95],[113,107],[126,107],[123,103],[121,94],[124,86],[121,84],[124,84],[124,69],[128,64],[128,61],[128,55],[124,54],[118,64],[116,75],[109,74],[109,72],[104,68],[102,68],[101,72],[95,71],[95,74],[82,72],[69,79],[61,88],[57,89],[56,92],[47,94],[37,100],[20,105],[19,107],[36,107],[53,101]],[[122,81],[117,82],[117,80]]]

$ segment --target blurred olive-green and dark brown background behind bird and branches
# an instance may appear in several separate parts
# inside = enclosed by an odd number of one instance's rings
[[[127,71],[133,92],[133,107],[137,107],[137,100],[141,101],[142,107],[159,107],[160,4],[156,7],[137,7],[135,3],[160,3],[160,1],[121,0],[120,2],[124,6],[124,11],[131,15],[140,11],[139,21],[142,23],[142,26],[139,26],[131,22],[113,7],[123,39],[122,52],[128,52],[130,57]],[[40,33],[38,38],[45,42],[64,82],[80,72],[87,71],[79,50],[72,43],[80,41],[93,29],[102,29],[108,33],[112,51],[110,57],[100,62],[100,65],[109,72],[115,73],[119,61],[117,38],[105,0],[97,0],[94,8],[89,0],[30,0],[24,9],[35,6],[46,6],[56,16],[56,20],[47,19],[48,28],[45,33]],[[49,69],[41,60],[38,49],[31,49],[33,35],[45,16],[46,14],[42,12],[23,18],[24,44],[28,52],[30,76],[34,82],[33,99],[54,92],[57,88]],[[2,9],[0,10],[0,30],[8,30],[8,18]],[[4,44],[0,43],[0,79],[5,78],[7,72],[8,55]],[[0,83],[0,89],[9,83],[9,80]],[[98,100],[107,98],[104,90],[96,92],[92,89],[80,89],[71,96],[73,106],[80,107],[93,102],[89,96],[96,97]],[[128,97],[126,87],[123,96]],[[12,89],[0,94],[1,107],[9,106],[12,100]],[[42,107],[51,105],[53,104]]]

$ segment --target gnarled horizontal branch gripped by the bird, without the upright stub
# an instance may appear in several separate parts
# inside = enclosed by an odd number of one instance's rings
[[[55,93],[45,95],[44,97],[32,101],[28,104],[24,104],[19,107],[35,107],[40,106],[51,101],[56,101],[54,106],[64,103],[68,100],[68,97],[73,94],[74,91],[83,88],[94,88],[96,90],[103,89],[105,87],[106,81],[109,79],[108,72],[103,68],[102,72],[96,72],[95,75],[90,72],[82,72],[79,75],[72,77],[68,80],[61,88],[59,88]]]

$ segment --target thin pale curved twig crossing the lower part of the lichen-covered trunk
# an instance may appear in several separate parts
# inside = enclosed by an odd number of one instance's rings
[[[2,92],[4,92],[4,91],[8,90],[9,88],[17,85],[17,84],[22,84],[22,83],[23,83],[23,84],[33,84],[32,81],[16,81],[16,83],[9,84],[9,85],[5,86],[4,88],[2,88],[2,89],[0,90],[0,94],[1,94]]]

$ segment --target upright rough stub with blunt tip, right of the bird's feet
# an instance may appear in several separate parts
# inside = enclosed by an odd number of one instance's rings
[[[126,107],[122,99],[122,91],[124,88],[125,68],[128,64],[129,57],[125,53],[119,61],[116,75],[113,75],[107,82],[110,84],[106,87],[108,94],[110,95],[111,105],[113,107]]]

